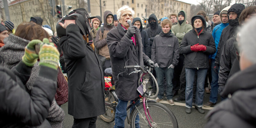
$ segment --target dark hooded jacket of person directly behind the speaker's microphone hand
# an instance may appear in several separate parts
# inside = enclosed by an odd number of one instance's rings
[[[144,52],[147,56],[150,56],[151,49],[150,49],[150,44],[149,44],[147,32],[146,32],[145,30],[143,30],[142,22],[141,22],[141,19],[140,19],[139,17],[136,17],[136,18],[133,19],[132,25],[133,25],[136,21],[139,21],[139,22],[140,22],[139,31],[140,31],[140,35],[141,35],[141,42],[142,42],[142,45],[143,45],[143,52]]]

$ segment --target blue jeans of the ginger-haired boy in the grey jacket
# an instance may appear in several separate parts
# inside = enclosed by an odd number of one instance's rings
[[[164,93],[164,86],[163,86],[163,78],[166,78],[166,98],[167,100],[172,100],[173,94],[172,94],[172,79],[173,79],[173,73],[174,69],[172,68],[158,68],[155,67],[156,77],[157,77],[157,83],[158,83],[158,95],[157,97],[159,99],[163,99],[163,93]]]

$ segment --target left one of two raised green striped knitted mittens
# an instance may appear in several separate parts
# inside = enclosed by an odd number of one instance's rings
[[[22,62],[24,62],[27,66],[34,66],[37,61],[38,55],[35,51],[35,45],[43,43],[41,40],[32,40],[25,47],[25,54],[22,56]]]

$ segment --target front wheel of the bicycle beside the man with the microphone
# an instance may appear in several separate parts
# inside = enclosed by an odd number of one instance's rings
[[[148,102],[146,104],[147,107],[149,112],[147,113],[147,117],[153,128],[178,128],[178,122],[174,114],[166,106],[157,102]],[[143,104],[132,110],[130,122],[131,128],[150,127],[143,109]]]

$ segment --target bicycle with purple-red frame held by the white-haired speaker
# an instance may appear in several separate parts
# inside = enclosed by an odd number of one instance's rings
[[[127,114],[127,121],[128,124],[131,126],[131,128],[135,127],[150,127],[150,128],[160,128],[160,127],[178,127],[177,119],[175,118],[174,114],[163,104],[157,103],[156,100],[149,100],[149,98],[155,98],[158,94],[158,85],[155,80],[155,77],[150,72],[150,69],[144,70],[141,66],[125,66],[124,68],[134,68],[134,72],[132,73],[138,73],[140,71],[143,72],[143,74],[140,75],[140,79],[138,81],[139,85],[142,88],[139,95],[133,102],[126,108],[126,111],[128,111],[137,101],[139,101],[141,98],[143,99],[142,102],[135,105],[132,112],[130,113],[130,116],[128,117]],[[148,92],[148,88],[146,89],[147,84],[147,77],[144,77],[146,74],[150,75],[152,79],[154,80],[156,84],[156,93],[155,95],[151,94],[151,91]],[[146,89],[146,90],[145,90]],[[138,89],[137,89],[138,90]],[[106,105],[106,114],[101,115],[100,118],[103,121],[110,121],[112,122],[115,118],[115,110],[116,105],[118,104],[118,98],[115,94],[115,91],[113,89],[113,86],[109,88],[109,97],[107,97],[107,101],[105,99],[105,105]],[[113,102],[112,102],[113,101]],[[109,111],[110,110],[110,111]],[[164,117],[164,118],[161,118]]]

